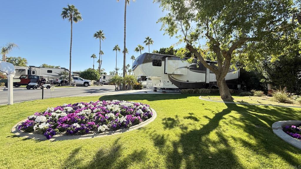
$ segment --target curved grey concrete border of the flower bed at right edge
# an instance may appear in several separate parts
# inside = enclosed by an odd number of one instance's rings
[[[282,129],[283,126],[290,125],[290,124],[300,124],[301,121],[296,120],[289,120],[289,121],[277,121],[272,124],[272,129],[274,134],[280,137],[285,142],[289,143],[290,145],[301,149],[301,141],[294,139],[290,135],[286,134]]]

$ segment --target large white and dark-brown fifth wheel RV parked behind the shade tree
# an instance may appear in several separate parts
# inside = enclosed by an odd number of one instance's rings
[[[188,58],[176,56],[144,53],[133,63],[132,70],[136,76],[148,76],[152,80],[154,88],[218,88],[216,77],[213,72],[197,63],[187,62]],[[217,62],[206,60],[207,64]],[[236,89],[239,84],[240,70],[229,69],[225,77],[228,88]]]

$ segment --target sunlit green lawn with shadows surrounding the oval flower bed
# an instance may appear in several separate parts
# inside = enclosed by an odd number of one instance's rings
[[[301,120],[301,109],[214,103],[192,94],[103,96],[149,104],[157,118],[119,135],[64,141],[14,136],[12,126],[36,111],[98,97],[0,106],[0,168],[293,168],[301,151],[272,132],[273,122]]]

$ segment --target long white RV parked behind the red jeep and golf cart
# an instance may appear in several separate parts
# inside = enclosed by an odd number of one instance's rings
[[[16,69],[16,75],[14,78],[19,78],[21,75],[41,75],[47,78],[48,81],[53,81],[54,84],[63,84],[64,80],[60,80],[60,72],[68,72],[66,68],[48,68],[48,67],[36,67],[36,66],[14,66]],[[73,73],[71,72],[71,76]],[[67,80],[65,80],[67,83]]]

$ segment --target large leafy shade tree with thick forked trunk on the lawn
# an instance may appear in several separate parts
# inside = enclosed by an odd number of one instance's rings
[[[165,17],[162,30],[177,36],[206,68],[216,75],[221,98],[232,99],[225,82],[231,62],[256,62],[262,51],[272,54],[275,44],[291,27],[292,0],[155,0]],[[199,39],[206,45],[201,47]],[[180,56],[181,54],[179,54]],[[243,56],[243,57],[242,57]],[[206,59],[217,61],[207,64]]]

